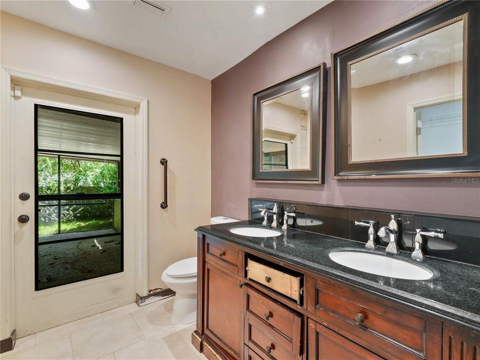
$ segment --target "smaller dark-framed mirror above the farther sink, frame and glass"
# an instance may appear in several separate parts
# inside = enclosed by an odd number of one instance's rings
[[[253,180],[323,182],[325,64],[253,94]]]

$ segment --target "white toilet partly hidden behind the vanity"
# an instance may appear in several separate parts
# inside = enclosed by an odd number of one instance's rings
[[[216,216],[210,223],[240,221],[225,216]],[[187,324],[197,319],[197,257],[174,262],[162,273],[162,281],[176,292],[173,302],[172,322]]]

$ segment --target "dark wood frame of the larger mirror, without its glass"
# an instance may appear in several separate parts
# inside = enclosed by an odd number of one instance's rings
[[[348,64],[458,16],[466,25],[466,79],[463,87],[466,154],[392,160],[349,161]],[[332,53],[333,178],[405,178],[480,176],[480,1],[440,1],[379,33]],[[465,66],[466,65],[466,66]],[[467,115],[467,116],[465,116]]]

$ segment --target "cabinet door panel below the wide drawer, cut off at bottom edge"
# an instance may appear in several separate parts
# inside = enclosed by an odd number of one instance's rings
[[[308,319],[308,360],[381,360],[329,328]]]

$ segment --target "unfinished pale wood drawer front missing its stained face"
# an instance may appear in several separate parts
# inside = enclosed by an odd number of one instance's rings
[[[303,276],[277,270],[249,258],[247,262],[247,278],[270,287],[271,289],[296,300],[297,303],[300,303],[300,289]]]

